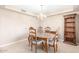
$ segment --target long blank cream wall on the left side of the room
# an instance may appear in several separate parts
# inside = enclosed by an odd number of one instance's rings
[[[28,28],[30,26],[37,28],[37,23],[35,17],[0,9],[0,45],[27,36]]]

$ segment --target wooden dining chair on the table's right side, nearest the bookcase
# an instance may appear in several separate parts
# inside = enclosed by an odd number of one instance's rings
[[[54,53],[58,50],[58,33],[56,31],[52,31],[49,34],[48,38],[48,46],[54,48]]]

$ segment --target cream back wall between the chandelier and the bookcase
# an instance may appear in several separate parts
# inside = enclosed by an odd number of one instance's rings
[[[62,15],[55,15],[46,18],[43,23],[43,27],[51,27],[52,30],[57,30],[60,40],[64,38],[64,18]]]

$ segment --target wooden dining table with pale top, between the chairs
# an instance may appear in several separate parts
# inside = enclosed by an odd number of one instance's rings
[[[56,33],[56,31],[50,31],[50,32],[42,32],[42,33],[37,33],[36,34],[36,37],[37,37],[37,39],[39,40],[43,40],[43,41],[45,41],[45,43],[44,43],[44,50],[46,51],[46,52],[48,52],[48,40],[49,40],[49,38],[51,37],[49,34],[55,34]]]

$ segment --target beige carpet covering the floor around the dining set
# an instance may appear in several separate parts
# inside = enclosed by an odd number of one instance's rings
[[[46,53],[41,48],[38,48],[37,52]],[[53,53],[53,48],[49,48],[48,52]],[[23,39],[19,42],[16,42],[15,44],[1,48],[0,53],[34,53],[34,50],[31,51],[28,45],[28,41]],[[63,42],[59,42],[57,53],[79,53],[79,45],[73,46]]]

